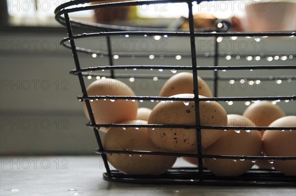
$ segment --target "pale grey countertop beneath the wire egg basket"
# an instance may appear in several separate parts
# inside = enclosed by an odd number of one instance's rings
[[[97,156],[1,157],[1,196],[296,196],[296,188],[108,182]],[[184,166],[178,159],[175,166]]]

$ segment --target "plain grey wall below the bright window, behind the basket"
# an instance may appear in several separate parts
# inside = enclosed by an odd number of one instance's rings
[[[33,29],[34,30],[34,29]],[[92,130],[85,126],[87,119],[82,110],[82,104],[77,100],[81,95],[78,78],[70,75],[69,71],[74,69],[74,61],[70,50],[58,45],[58,42],[67,36],[66,29],[34,30],[19,29],[14,31],[1,32],[0,50],[0,154],[93,154],[97,148]],[[101,41],[100,41],[101,40]],[[118,42],[116,42],[116,40]],[[129,44],[129,50],[133,54],[133,41],[138,41],[135,50],[141,51],[141,40],[148,40],[148,50],[152,53],[159,52],[189,52],[188,38],[162,38],[156,44],[151,37],[114,37],[113,47],[115,52],[123,52]],[[161,42],[160,41],[164,41]],[[268,37],[262,38],[262,43],[254,43],[253,38],[238,38],[235,42],[224,39],[227,47],[223,52],[238,53],[296,53],[296,39],[290,37]],[[246,50],[244,44],[247,43]],[[116,44],[117,43],[117,44]],[[214,47],[213,38],[197,38],[197,52],[212,52]],[[79,46],[89,46],[93,49],[106,49],[105,38],[77,40]],[[103,44],[103,45],[102,45]],[[155,49],[155,44],[157,48]],[[255,44],[255,45],[254,45]],[[205,46],[204,46],[205,45]],[[254,48],[256,46],[256,48]],[[29,48],[30,47],[30,48]],[[144,47],[144,45],[143,45]],[[162,51],[166,49],[167,51]],[[260,48],[261,47],[261,48]],[[29,48],[29,49],[28,49]],[[143,49],[143,48],[142,48]],[[82,67],[108,65],[108,58],[92,58],[89,54],[79,53]],[[296,65],[296,58],[287,61],[268,62],[265,59],[260,61],[246,61],[245,59],[226,61],[220,59],[221,65]],[[120,57],[114,60],[115,65],[191,65],[190,58],[183,57],[177,61],[175,58],[155,59],[148,57]],[[213,65],[212,58],[199,58],[199,66]],[[106,72],[106,71],[105,71]],[[104,73],[105,73],[104,72]],[[116,73],[150,73],[151,78],[159,74],[158,70],[137,70],[117,71]],[[170,70],[161,74],[173,75]],[[254,71],[220,71],[222,76],[246,75],[296,75],[295,70],[254,70]],[[199,71],[200,76],[211,76],[213,71]],[[128,80],[125,79],[126,81]],[[86,79],[86,85],[92,80]],[[141,89],[141,80],[136,78],[130,86],[138,96],[157,96],[164,79],[153,82],[146,80],[149,86]],[[207,81],[212,84],[212,81]],[[14,85],[13,85],[14,84]],[[28,86],[28,84],[30,86]],[[157,85],[156,85],[157,84]],[[227,84],[227,87],[224,85]],[[296,95],[296,81],[287,82],[283,80],[281,85],[274,81],[262,82],[260,85],[238,86],[238,82],[232,86],[224,81],[220,82],[219,96],[226,97],[252,97],[252,96],[292,96]],[[50,85],[50,86],[48,86]],[[212,88],[212,86],[211,86]],[[156,103],[144,101],[140,106],[150,107]],[[234,102],[232,106],[225,102],[221,104],[227,113],[241,114],[246,106],[243,102]],[[283,108],[287,115],[295,115],[295,101],[289,103],[280,102],[278,105]]]

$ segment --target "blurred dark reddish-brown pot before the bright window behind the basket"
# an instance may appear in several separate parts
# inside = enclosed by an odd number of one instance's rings
[[[102,0],[91,2],[91,4],[102,4],[102,3],[112,3],[118,2],[118,0]],[[120,0],[128,1],[128,0]],[[129,20],[129,13],[135,9],[135,6],[115,6],[108,8],[95,9],[95,21],[97,23],[112,24],[118,21]]]

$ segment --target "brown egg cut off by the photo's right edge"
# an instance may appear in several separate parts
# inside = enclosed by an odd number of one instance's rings
[[[268,127],[296,127],[296,116],[285,116],[272,122]],[[266,156],[296,157],[296,129],[266,130],[263,134],[263,151]],[[288,176],[296,176],[296,160],[274,160],[276,170]]]

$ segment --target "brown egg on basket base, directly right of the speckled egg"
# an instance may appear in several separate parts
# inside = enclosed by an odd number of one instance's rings
[[[254,127],[248,118],[229,114],[227,126]],[[262,142],[259,131],[227,130],[211,146],[203,150],[205,155],[259,156]],[[239,176],[247,172],[254,163],[251,160],[203,159],[206,167],[216,176]]]

